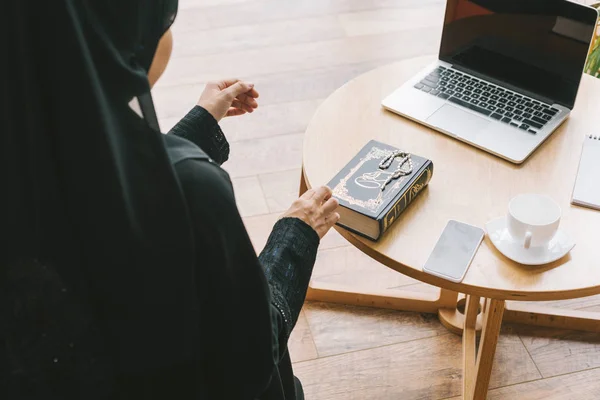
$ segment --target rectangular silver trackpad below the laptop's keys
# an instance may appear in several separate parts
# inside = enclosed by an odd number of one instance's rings
[[[464,139],[474,140],[491,121],[445,104],[427,118],[427,123]]]

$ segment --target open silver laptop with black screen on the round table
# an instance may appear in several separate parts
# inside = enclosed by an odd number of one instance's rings
[[[448,0],[439,60],[382,104],[520,164],[573,109],[597,16],[567,0]]]

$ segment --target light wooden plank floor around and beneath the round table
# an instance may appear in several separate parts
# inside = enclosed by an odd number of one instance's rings
[[[363,72],[435,54],[444,4],[180,0],[173,59],[154,90],[161,125],[167,130],[182,117],[207,80],[256,84],[259,110],[222,126],[232,148],[224,167],[257,251],[296,197],[303,132],[319,104]],[[434,289],[387,270],[335,232],[322,241],[314,278],[367,289]],[[600,311],[600,297],[557,305]],[[461,340],[432,315],[308,303],[290,348],[308,400],[460,395]],[[494,400],[600,399],[600,337],[505,324],[491,388]]]

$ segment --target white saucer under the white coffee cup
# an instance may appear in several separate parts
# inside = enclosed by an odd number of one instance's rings
[[[546,246],[526,249],[508,232],[506,217],[491,220],[485,224],[485,230],[500,253],[525,265],[543,265],[554,262],[566,256],[575,247],[575,242],[559,229],[556,236]]]

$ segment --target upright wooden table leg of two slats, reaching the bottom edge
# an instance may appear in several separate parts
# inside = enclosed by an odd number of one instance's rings
[[[463,332],[463,399],[485,400],[492,374],[496,345],[500,336],[504,300],[488,299],[483,313],[483,330],[475,356],[475,321],[479,312],[479,298],[467,296],[465,328]]]

